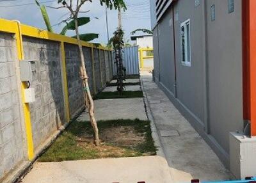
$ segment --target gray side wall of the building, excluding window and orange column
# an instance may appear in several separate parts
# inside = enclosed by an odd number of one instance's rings
[[[229,132],[243,131],[241,1],[235,0],[235,11],[230,14],[227,2],[205,0],[195,6],[195,1],[176,1],[153,30],[155,81],[226,166]],[[213,22],[212,4],[216,6]],[[180,58],[180,24],[188,19],[191,67],[182,65]]]

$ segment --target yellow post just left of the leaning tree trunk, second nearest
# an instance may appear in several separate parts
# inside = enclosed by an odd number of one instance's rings
[[[68,83],[67,83],[67,70],[66,70],[66,58],[65,58],[65,45],[64,42],[61,42],[61,66],[62,66],[62,77],[63,77],[63,83],[64,83],[64,96],[65,96],[65,115],[67,122],[70,120],[70,111],[69,111],[69,101],[68,101]]]

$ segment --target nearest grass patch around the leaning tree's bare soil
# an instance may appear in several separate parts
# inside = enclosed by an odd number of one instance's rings
[[[108,157],[135,157],[156,155],[156,147],[151,136],[150,122],[147,120],[108,120],[99,121],[100,136],[104,132],[115,133],[113,127],[133,127],[134,131],[143,136],[140,144],[120,145],[106,139],[105,145],[95,147],[92,143],[77,143],[84,133],[93,135],[90,122],[72,122],[49,149],[38,159],[41,162],[74,161],[81,159],[98,159]],[[115,128],[114,128],[115,129]],[[117,150],[117,151],[116,151]],[[121,152],[121,153],[117,153]]]

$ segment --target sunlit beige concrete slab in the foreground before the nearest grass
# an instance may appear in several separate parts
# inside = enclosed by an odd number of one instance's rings
[[[127,157],[36,163],[24,183],[170,183],[170,169],[163,157]]]

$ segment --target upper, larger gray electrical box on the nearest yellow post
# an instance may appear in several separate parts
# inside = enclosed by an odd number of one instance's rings
[[[35,61],[20,61],[20,80],[32,81],[33,72],[35,72]]]

